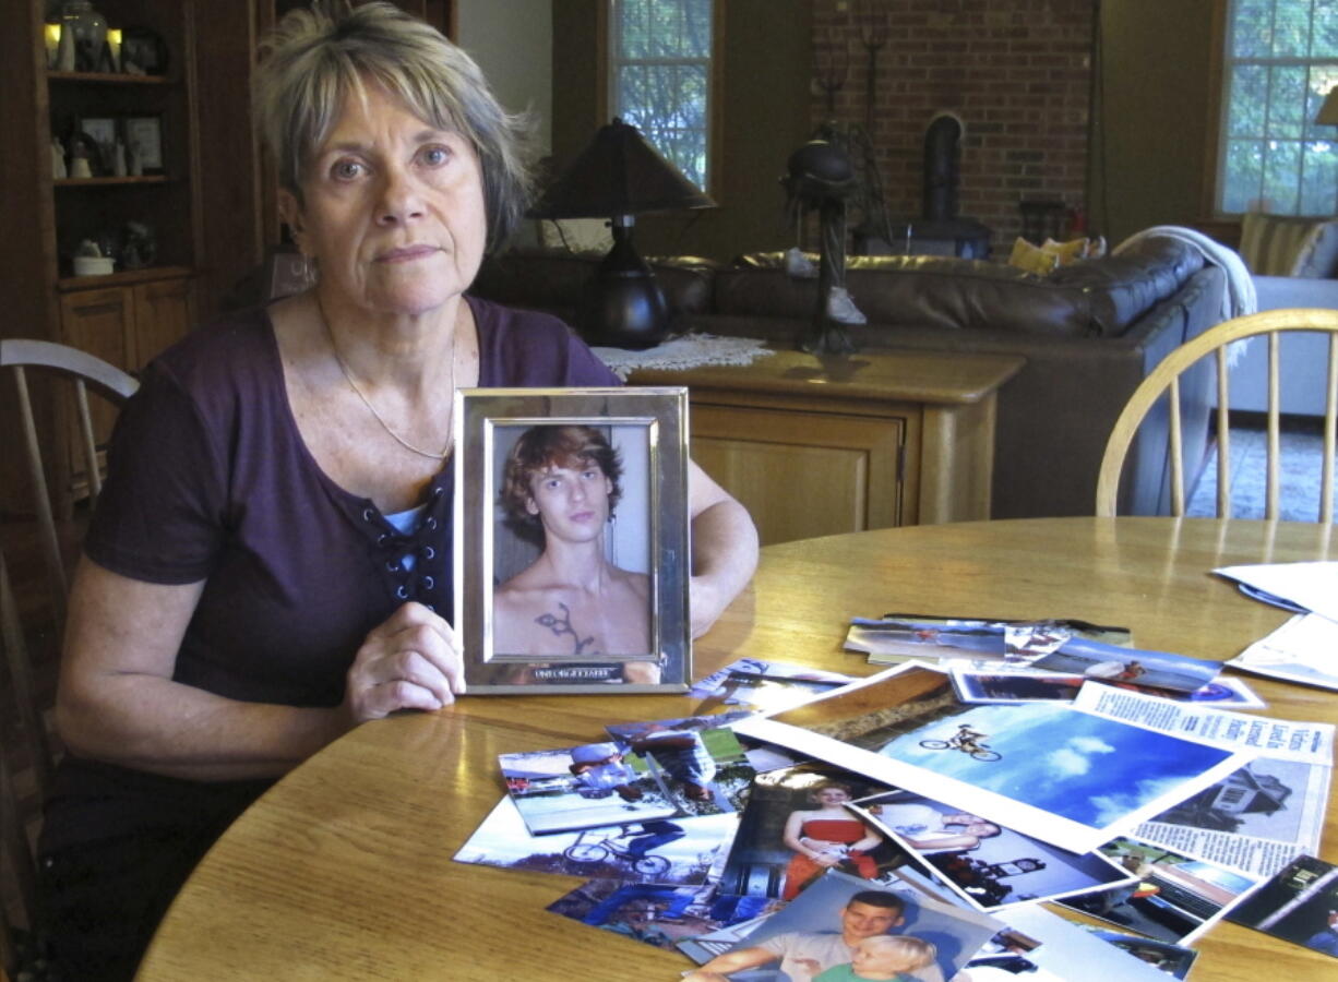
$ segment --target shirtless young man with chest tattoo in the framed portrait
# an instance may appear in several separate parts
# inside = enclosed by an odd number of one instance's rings
[[[593,427],[531,427],[516,440],[502,506],[512,523],[542,530],[543,553],[494,594],[498,653],[582,661],[650,654],[650,577],[605,557],[621,474],[617,451]],[[644,666],[629,664],[629,681],[634,672]]]

